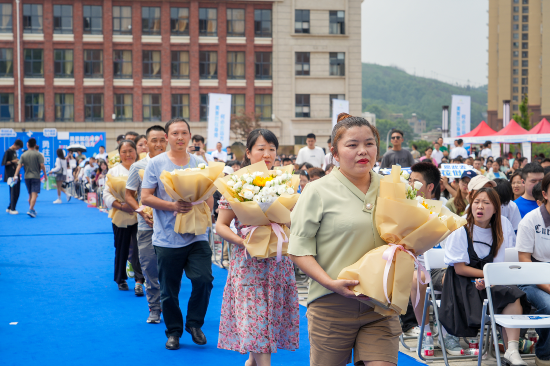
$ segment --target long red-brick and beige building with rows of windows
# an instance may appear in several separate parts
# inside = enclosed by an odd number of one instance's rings
[[[0,0],[0,126],[112,147],[179,116],[206,136],[208,93],[227,93],[282,145],[328,136],[330,98],[361,109],[360,3]]]

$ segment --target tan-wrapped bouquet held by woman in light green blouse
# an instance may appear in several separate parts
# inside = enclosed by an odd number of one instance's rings
[[[350,289],[355,295],[370,297],[366,302],[386,316],[405,314],[415,263],[419,283],[424,284],[421,271],[425,273],[426,283],[430,280],[416,256],[466,224],[466,219],[450,212],[442,206],[442,201],[416,197],[421,184],[416,182],[416,187],[411,187],[406,179],[408,174],[401,174],[400,167],[394,165],[392,172],[380,182],[376,228],[388,244],[367,252],[338,275],[338,279],[359,280],[359,285]],[[415,307],[419,299],[420,293],[417,293]]]

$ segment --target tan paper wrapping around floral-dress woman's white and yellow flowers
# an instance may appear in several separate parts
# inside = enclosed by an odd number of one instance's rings
[[[294,171],[294,166],[283,166],[280,167],[280,170],[283,173],[292,174]],[[235,176],[240,177],[245,173],[253,172],[263,172],[263,176],[267,177],[272,171],[267,169],[265,162],[260,161],[256,164],[241,168],[234,174]],[[250,233],[246,235],[244,240],[246,250],[249,252],[251,257],[255,258],[270,258],[277,256],[277,235],[273,232],[271,223],[273,222],[281,225],[285,234],[289,237],[290,230],[284,224],[290,222],[290,210],[292,210],[294,205],[296,205],[296,201],[298,201],[300,195],[298,193],[284,193],[273,202],[266,212],[263,212],[261,207],[256,202],[241,202],[238,198],[235,198],[230,191],[230,187],[227,185],[227,181],[229,179],[230,176],[218,178],[214,184],[216,184],[219,192],[226,198],[241,224],[246,226],[258,226],[252,235],[250,235]],[[300,176],[298,174],[293,174],[291,185],[294,192],[298,192],[299,184]],[[287,249],[288,243],[283,243],[283,256],[288,256]]]

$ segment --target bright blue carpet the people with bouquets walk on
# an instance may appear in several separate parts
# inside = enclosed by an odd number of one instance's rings
[[[118,291],[113,281],[113,233],[106,213],[73,199],[52,204],[56,191],[42,190],[37,218],[24,185],[19,215],[0,224],[0,364],[8,365],[244,365],[248,356],[218,350],[218,324],[227,271],[212,266],[215,277],[202,330],[206,346],[184,333],[178,351],[164,349],[164,324],[147,324],[147,301],[133,291]],[[0,207],[8,205],[0,184]],[[64,195],[63,195],[64,199]],[[129,285],[133,286],[133,280]],[[180,299],[186,312],[190,283]],[[305,307],[300,306],[300,349],[281,351],[273,365],[309,365]],[[9,323],[17,322],[17,325]],[[399,354],[399,365],[419,364]]]

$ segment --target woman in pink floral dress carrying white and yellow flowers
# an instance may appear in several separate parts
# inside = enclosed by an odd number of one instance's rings
[[[273,167],[277,137],[267,129],[255,129],[246,142],[243,166],[265,161]],[[226,288],[223,291],[218,348],[249,353],[246,366],[271,365],[277,348],[294,351],[299,344],[300,309],[292,261],[283,257],[251,258],[244,248],[243,226],[228,202],[219,200],[216,232],[233,243]],[[238,235],[229,228],[235,219]]]

